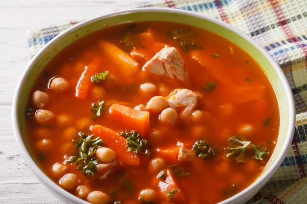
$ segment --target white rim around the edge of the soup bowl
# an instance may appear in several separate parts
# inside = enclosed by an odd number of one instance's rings
[[[27,151],[26,145],[23,141],[23,138],[21,137],[20,131],[19,131],[19,125],[18,125],[18,116],[17,116],[17,109],[18,109],[18,103],[19,103],[19,96],[20,96],[20,91],[21,88],[23,87],[24,83],[26,82],[27,76],[34,66],[34,64],[40,59],[41,55],[47,52],[47,50],[52,47],[56,42],[61,39],[62,37],[68,35],[69,33],[83,27],[84,25],[93,23],[95,21],[99,21],[104,18],[109,18],[112,16],[117,16],[117,15],[124,15],[126,13],[145,13],[145,12],[157,12],[157,13],[174,13],[174,14],[181,14],[181,15],[188,15],[191,17],[196,17],[200,19],[204,19],[210,22],[213,22],[217,25],[220,25],[230,31],[233,31],[240,37],[243,37],[246,39],[249,43],[254,45],[262,55],[264,55],[268,61],[271,63],[271,65],[274,67],[275,71],[278,74],[278,77],[280,78],[282,85],[286,89],[287,93],[287,98],[289,101],[289,129],[287,131],[287,136],[286,140],[280,150],[280,154],[276,158],[275,161],[273,161],[272,166],[256,181],[254,181],[251,185],[249,185],[246,189],[243,191],[237,193],[236,195],[227,198],[226,200],[223,200],[219,202],[220,204],[225,204],[225,203],[241,203],[245,202],[248,199],[250,199],[254,194],[250,193],[250,191],[255,191],[255,189],[259,190],[259,186],[262,188],[272,177],[272,175],[275,173],[277,168],[281,165],[284,157],[286,157],[287,152],[290,148],[292,137],[294,134],[295,130],[295,105],[294,105],[294,98],[292,95],[292,91],[290,88],[290,85],[288,83],[288,80],[286,79],[286,76],[284,75],[283,71],[279,67],[279,65],[275,62],[275,60],[272,58],[272,56],[267,52],[267,50],[262,47],[260,44],[258,44],[254,39],[249,37],[247,34],[243,33],[242,31],[234,28],[232,25],[223,22],[221,20],[215,19],[213,17],[206,16],[201,13],[196,13],[192,11],[185,11],[185,10],[180,10],[180,9],[173,9],[173,8],[135,8],[135,9],[125,9],[125,10],[120,10],[120,11],[115,11],[115,12],[110,12],[107,14],[103,14],[97,17],[93,17],[87,20],[84,20],[80,23],[77,23],[73,27],[65,30],[64,32],[60,33],[57,35],[55,38],[53,38],[50,42],[48,42],[43,48],[39,50],[39,52],[34,56],[34,58],[29,62],[28,66],[26,67],[25,71],[21,75],[21,78],[18,82],[18,85],[15,90],[15,94],[13,97],[13,104],[12,104],[12,123],[13,123],[13,132],[15,135],[15,139],[17,141],[18,147],[21,151],[21,155],[23,156],[24,160],[26,163],[29,165],[30,169],[33,171],[34,175],[37,177],[37,179],[45,186],[47,189],[52,189],[52,193],[56,193],[59,195],[61,198],[65,200],[70,200],[73,201],[74,203],[89,203],[85,200],[82,200],[78,198],[77,196],[69,193],[68,191],[65,191],[62,189],[60,186],[55,184],[43,171],[36,165],[34,160],[31,158],[29,152]],[[56,197],[57,197],[56,195]]]

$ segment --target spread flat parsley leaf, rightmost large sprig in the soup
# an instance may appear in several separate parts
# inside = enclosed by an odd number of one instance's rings
[[[253,159],[262,161],[264,156],[269,155],[267,148],[259,145],[256,147],[251,141],[245,140],[245,137],[239,134],[232,136],[228,141],[230,142],[231,147],[225,148],[228,152],[226,157],[233,158],[236,162],[244,162],[245,152],[250,146],[255,153]]]

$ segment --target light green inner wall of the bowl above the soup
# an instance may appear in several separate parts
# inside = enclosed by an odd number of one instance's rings
[[[45,67],[45,65],[55,56],[57,55],[63,48],[78,40],[78,38],[89,35],[92,32],[97,30],[101,30],[106,27],[110,27],[112,25],[121,24],[125,22],[136,22],[136,21],[170,21],[170,22],[178,22],[184,23],[188,25],[192,25],[194,27],[199,27],[201,29],[213,32],[217,35],[220,35],[240,48],[244,49],[249,55],[255,59],[256,62],[261,66],[262,70],[267,74],[270,82],[273,85],[275,93],[278,99],[278,105],[280,110],[280,129],[278,141],[275,146],[274,152],[271,156],[269,163],[266,168],[262,172],[264,174],[266,171],[270,169],[270,167],[274,164],[274,161],[280,155],[280,152],[284,148],[288,148],[287,144],[289,144],[289,138],[287,139],[288,130],[292,129],[291,126],[291,99],[289,99],[289,92],[287,92],[287,87],[284,85],[284,79],[280,78],[280,72],[278,73],[273,64],[272,59],[268,59],[264,54],[262,54],[256,46],[253,45],[244,37],[238,35],[236,32],[229,30],[228,28],[223,27],[220,24],[216,24],[210,20],[201,19],[195,16],[183,15],[179,13],[167,13],[167,12],[126,12],[117,15],[109,15],[104,19],[94,19],[89,20],[85,25],[77,25],[71,32],[63,34],[48,43],[45,49],[40,52],[32,63],[29,65],[29,71],[26,71],[26,75],[23,78],[23,81],[20,82],[19,95],[16,94],[16,107],[17,107],[17,125],[19,127],[19,132],[21,137],[23,138],[23,143],[25,144],[28,152],[31,157],[33,155],[28,145],[27,135],[26,135],[26,127],[25,127],[25,108],[27,106],[28,95],[31,90],[32,85],[34,84],[36,78]],[[37,38],[42,38],[42,36],[38,36]],[[39,40],[37,39],[37,42]],[[281,72],[282,74],[282,72]],[[290,117],[289,117],[290,116]],[[19,141],[20,142],[20,141]],[[286,146],[285,146],[286,145]],[[39,166],[39,163],[36,163]],[[259,177],[258,177],[259,179]]]

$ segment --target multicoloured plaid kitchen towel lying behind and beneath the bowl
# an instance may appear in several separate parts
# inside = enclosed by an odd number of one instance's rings
[[[292,146],[269,183],[249,203],[307,203],[306,4],[306,0],[165,0],[140,6],[189,10],[232,24],[264,46],[286,75],[297,113]],[[29,30],[31,55],[82,20]]]

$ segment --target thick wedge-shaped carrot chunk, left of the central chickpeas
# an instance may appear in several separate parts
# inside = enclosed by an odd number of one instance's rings
[[[143,137],[149,128],[149,112],[137,111],[129,107],[113,104],[110,107],[110,113],[121,121],[127,129],[138,131]]]

